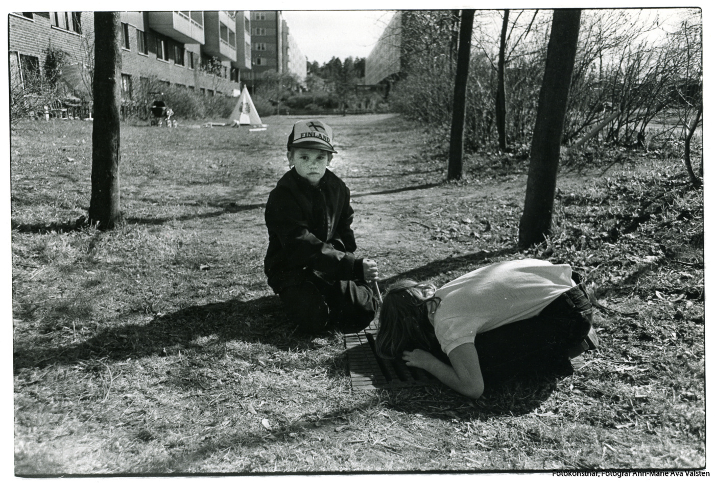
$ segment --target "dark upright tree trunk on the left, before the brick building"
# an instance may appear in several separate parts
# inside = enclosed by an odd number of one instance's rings
[[[119,12],[94,12],[94,124],[92,126],[92,197],[89,221],[113,229],[119,210],[119,103],[122,54]]]

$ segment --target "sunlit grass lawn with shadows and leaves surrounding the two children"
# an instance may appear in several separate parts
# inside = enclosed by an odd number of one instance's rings
[[[553,236],[517,252],[526,161],[470,156],[448,183],[419,126],[324,119],[383,289],[503,259],[571,263],[608,307],[586,366],[477,401],[353,390],[342,335],[295,331],[263,274],[263,207],[295,118],[254,133],[122,125],[111,232],[74,229],[92,124],[28,121],[11,132],[16,474],[704,467],[704,205],[677,157],[567,159]]]

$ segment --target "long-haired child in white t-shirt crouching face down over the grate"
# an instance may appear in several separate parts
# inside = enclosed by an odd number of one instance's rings
[[[577,274],[573,274],[578,277]],[[478,399],[485,384],[558,371],[598,347],[593,308],[568,264],[513,260],[436,289],[398,281],[380,309],[377,350]]]

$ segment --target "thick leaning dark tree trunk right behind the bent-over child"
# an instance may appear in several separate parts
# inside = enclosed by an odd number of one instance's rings
[[[531,141],[524,212],[519,222],[519,247],[541,243],[551,234],[556,171],[580,21],[580,9],[553,11],[546,66]]]

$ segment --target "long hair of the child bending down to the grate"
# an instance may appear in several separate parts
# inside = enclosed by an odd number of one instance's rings
[[[380,309],[380,326],[375,340],[379,357],[395,359],[404,350],[424,349],[441,352],[428,312],[440,303],[437,287],[401,279],[388,287]],[[435,354],[438,355],[438,354]]]

